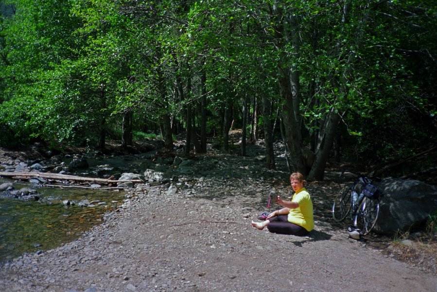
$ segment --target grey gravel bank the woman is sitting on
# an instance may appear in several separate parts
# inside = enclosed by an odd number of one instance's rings
[[[332,224],[326,192],[341,185],[307,187],[316,214],[308,237],[256,230],[250,221],[266,210],[272,184],[284,197],[290,189],[250,173],[187,178],[176,193],[139,185],[83,237],[1,266],[0,291],[436,291],[436,275]]]

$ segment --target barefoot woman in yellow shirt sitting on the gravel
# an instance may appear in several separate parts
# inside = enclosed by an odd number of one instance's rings
[[[278,196],[277,203],[284,206],[270,213],[264,222],[252,221],[252,226],[260,230],[267,226],[270,232],[305,236],[314,229],[313,202],[304,187],[303,176],[299,172],[290,175],[290,183],[295,191],[291,201],[283,201]]]

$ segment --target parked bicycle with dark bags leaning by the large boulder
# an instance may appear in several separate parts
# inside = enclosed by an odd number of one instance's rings
[[[374,176],[368,179],[365,175],[351,170],[343,170],[340,177],[343,177],[345,172],[353,173],[357,177],[352,179],[351,186],[345,186],[338,193],[332,205],[332,218],[340,222],[349,215],[353,225],[361,230],[361,235],[367,235],[375,227],[379,214],[379,199],[384,196],[371,183],[381,182],[381,179]]]

